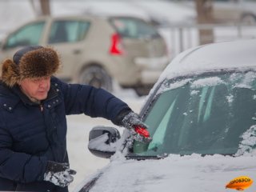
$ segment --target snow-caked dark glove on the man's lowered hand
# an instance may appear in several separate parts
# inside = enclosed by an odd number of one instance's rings
[[[73,174],[75,170],[70,170],[68,163],[47,162],[46,173],[44,174],[44,181],[52,182],[55,186],[68,186],[73,182]]]

